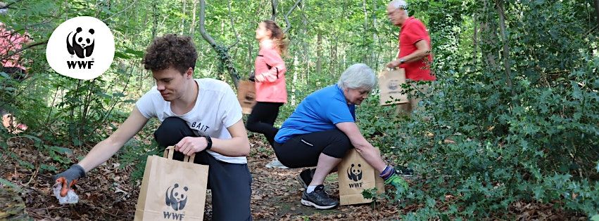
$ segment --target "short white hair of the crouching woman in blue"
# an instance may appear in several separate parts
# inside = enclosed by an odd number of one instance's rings
[[[374,71],[368,65],[361,63],[348,67],[337,81],[339,88],[362,88],[368,91],[372,91],[375,84],[377,84],[377,77],[374,75]]]

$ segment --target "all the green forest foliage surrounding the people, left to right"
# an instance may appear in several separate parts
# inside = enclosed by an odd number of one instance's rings
[[[349,65],[365,62],[379,70],[396,56],[398,27],[386,20],[387,2],[323,7],[331,1],[308,0],[289,13],[289,103],[278,125],[306,95],[335,83]],[[293,4],[279,3],[276,22],[283,28]],[[398,116],[394,105],[379,107],[376,92],[357,111],[363,135],[387,159],[420,176],[399,206],[422,208],[403,218],[477,220],[504,214],[516,201],[554,203],[589,217],[597,213],[599,39],[592,4],[410,1],[410,15],[431,35],[439,79],[430,85],[434,93],[409,117]],[[196,31],[196,1],[16,1],[18,9],[0,15],[0,22],[35,42],[47,40],[64,20],[87,15],[106,22],[117,49],[108,72],[79,81],[51,71],[43,44],[27,48],[21,54],[31,73],[27,79],[0,72],[0,108],[30,127],[20,136],[32,139],[58,166],[68,166],[74,163],[70,149],[87,150],[108,137],[154,85],[140,61],[155,36],[191,35],[198,78],[230,82],[223,73],[232,67],[241,78],[250,73],[258,52],[254,30],[270,18],[270,1],[231,4],[230,12],[228,6],[225,0],[207,3],[206,31],[225,46],[212,48]],[[237,36],[240,41],[232,46]],[[160,154],[150,143],[157,124],[148,123],[118,153],[122,167],[136,166],[133,179],[141,178],[147,155]],[[3,140],[11,136],[0,129]],[[17,158],[5,142],[0,146],[6,150],[2,161]],[[24,168],[35,167],[17,160]],[[57,170],[44,163],[39,169]]]

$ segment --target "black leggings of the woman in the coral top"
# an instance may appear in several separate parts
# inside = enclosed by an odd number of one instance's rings
[[[268,143],[273,146],[275,135],[279,132],[279,129],[273,125],[279,116],[279,107],[282,105],[283,103],[256,102],[252,113],[248,116],[246,128],[254,133],[262,133]]]

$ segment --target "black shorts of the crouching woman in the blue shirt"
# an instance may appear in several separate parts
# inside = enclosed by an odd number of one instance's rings
[[[289,168],[316,166],[321,153],[343,159],[351,148],[347,135],[338,129],[296,135],[283,144],[275,142],[277,159]]]

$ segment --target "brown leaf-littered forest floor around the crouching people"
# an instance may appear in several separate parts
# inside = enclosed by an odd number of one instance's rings
[[[412,205],[398,208],[385,200],[376,205],[339,206],[332,210],[302,206],[300,199],[303,187],[296,180],[301,169],[266,168],[265,165],[275,158],[275,154],[255,135],[251,136],[251,143],[253,147],[248,166],[253,177],[251,210],[254,220],[397,220],[399,215],[422,207]],[[130,179],[134,166],[119,168],[115,157],[109,159],[78,182],[79,203],[61,205],[52,194],[53,172],[43,168],[44,164],[56,164],[51,156],[34,148],[29,138],[11,138],[7,144],[8,152],[0,150],[0,206],[4,207],[4,211],[0,210],[0,220],[21,220],[27,216],[34,220],[133,220],[141,182]],[[73,151],[75,156],[85,154],[76,148]],[[325,189],[339,199],[336,174],[329,175]],[[204,220],[210,220],[211,217],[210,201],[208,194]],[[25,215],[22,210],[26,210]],[[9,211],[8,214],[6,211]],[[506,216],[516,220],[584,218],[568,215],[551,204],[523,202],[512,203],[510,214],[499,214],[497,217]]]

